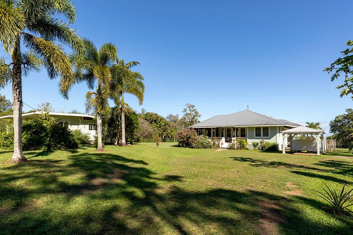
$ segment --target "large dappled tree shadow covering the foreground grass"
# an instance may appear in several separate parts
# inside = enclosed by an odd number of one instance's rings
[[[287,218],[279,223],[282,234],[298,228],[312,234],[353,229],[344,218],[337,217],[340,227],[332,228],[293,206],[323,205],[316,200],[287,200],[256,190],[193,191],[177,185],[180,175],[157,175],[148,165],[115,154],[82,153],[5,167],[0,234],[251,234],[253,224],[259,224],[259,200],[281,204],[276,213]],[[21,181],[25,184],[18,185]]]

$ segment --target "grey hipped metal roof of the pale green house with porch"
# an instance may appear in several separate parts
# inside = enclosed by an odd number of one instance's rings
[[[297,123],[286,120],[279,120],[273,117],[265,116],[250,110],[243,110],[240,112],[219,115],[211,117],[188,128],[214,127],[214,126],[256,126],[256,125],[289,125],[299,126]]]

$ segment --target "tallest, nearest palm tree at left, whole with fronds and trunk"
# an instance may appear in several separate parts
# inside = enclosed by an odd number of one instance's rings
[[[82,52],[83,41],[69,24],[54,18],[76,20],[73,3],[66,0],[0,0],[0,42],[12,62],[0,59],[0,86],[12,82],[14,148],[12,160],[27,160],[22,152],[22,74],[45,67],[50,79],[60,77],[60,92],[68,98],[73,72],[59,41]],[[29,51],[22,51],[21,45]],[[11,69],[12,66],[12,69]]]

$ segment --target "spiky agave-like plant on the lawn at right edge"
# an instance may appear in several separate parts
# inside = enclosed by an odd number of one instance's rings
[[[353,218],[351,214],[349,214],[347,211],[353,213],[352,210],[348,209],[349,206],[352,206],[353,204],[345,205],[348,200],[352,200],[353,198],[353,188],[348,191],[346,190],[345,192],[345,184],[343,184],[341,193],[338,195],[336,192],[336,189],[329,188],[327,184],[324,183],[324,185],[327,187],[328,190],[326,190],[324,187],[322,189],[325,191],[325,193],[322,193],[317,190],[313,190],[316,193],[314,193],[316,196],[321,197],[324,199],[326,202],[328,202],[331,205],[331,209],[334,211],[335,214]]]

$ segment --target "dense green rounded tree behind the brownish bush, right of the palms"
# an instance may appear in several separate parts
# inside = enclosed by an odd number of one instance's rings
[[[147,120],[150,125],[158,132],[159,136],[171,139],[174,135],[171,124],[164,117],[157,113],[146,112],[143,119]]]

